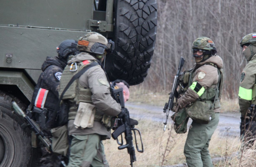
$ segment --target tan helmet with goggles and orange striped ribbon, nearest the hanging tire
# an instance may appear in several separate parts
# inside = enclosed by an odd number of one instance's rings
[[[94,53],[97,58],[105,56],[105,51],[113,50],[113,41],[108,42],[107,38],[96,32],[89,32],[80,37],[78,41],[78,50]]]

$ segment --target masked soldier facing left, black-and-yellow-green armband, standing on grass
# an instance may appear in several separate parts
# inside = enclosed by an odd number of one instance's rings
[[[208,146],[219,123],[220,96],[215,95],[217,94],[216,90],[221,87],[219,85],[221,78],[219,70],[223,67],[223,62],[221,57],[217,55],[214,42],[207,37],[197,38],[193,42],[192,53],[196,64],[192,70],[189,70],[188,73],[185,72],[183,75],[183,77],[187,77],[183,78],[183,81],[188,81],[188,83],[184,83],[188,84],[188,89],[178,99],[176,111],[188,105],[195,105],[196,101],[214,106],[215,118],[211,119],[208,124],[200,124],[193,120],[184,146],[184,155],[189,167],[212,167]],[[197,111],[193,110],[191,112]]]

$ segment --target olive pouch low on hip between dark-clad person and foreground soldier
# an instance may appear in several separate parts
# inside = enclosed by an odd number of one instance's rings
[[[66,156],[69,148],[67,125],[51,129],[51,135],[53,135],[51,150],[54,153]]]

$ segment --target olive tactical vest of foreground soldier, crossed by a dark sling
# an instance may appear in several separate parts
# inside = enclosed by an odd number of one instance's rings
[[[75,67],[75,65],[73,65],[72,67],[69,65],[66,66],[61,76],[59,95],[62,94],[63,90],[68,85],[68,82],[71,80],[71,78],[92,62],[96,61],[85,60],[82,62],[77,62],[77,67]],[[74,70],[74,68],[77,68],[77,70]],[[77,79],[69,86],[68,90],[63,95],[63,100],[69,101],[70,107],[68,120],[73,120],[75,119],[75,115],[77,114],[79,102],[86,102],[92,104],[92,93],[89,88],[80,85]],[[94,117],[94,121],[100,121],[101,119],[102,116],[99,115],[95,115]]]

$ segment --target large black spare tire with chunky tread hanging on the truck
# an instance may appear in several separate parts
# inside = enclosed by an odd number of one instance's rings
[[[151,65],[157,33],[157,0],[115,1],[115,51],[107,56],[110,80],[130,85],[144,81]]]

